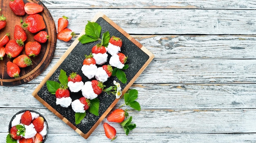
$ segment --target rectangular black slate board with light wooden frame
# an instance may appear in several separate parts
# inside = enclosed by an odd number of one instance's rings
[[[122,84],[116,77],[111,76],[108,81],[104,82],[103,84],[106,85],[107,88],[113,86],[113,80],[116,80],[121,84],[122,93],[124,94],[135,82],[138,76],[143,72],[143,70],[148,66],[148,64],[153,60],[154,55],[144,46],[142,46],[138,41],[132,38],[122,28],[117,26],[117,24],[112,22],[112,20],[110,20],[103,13],[97,13],[92,19],[92,22],[97,22],[99,25],[101,25],[101,33],[108,31],[110,33],[110,37],[115,35],[123,40],[121,52],[128,56],[128,61],[126,64],[129,65],[129,68],[124,70],[127,77],[127,83]],[[75,112],[72,110],[71,105],[68,108],[63,108],[60,105],[56,105],[55,95],[49,93],[46,86],[47,80],[54,80],[58,82],[58,76],[61,69],[67,72],[67,75],[72,72],[77,72],[82,76],[83,82],[88,81],[88,78],[83,75],[81,67],[85,55],[91,53],[92,47],[96,45],[98,41],[88,44],[81,44],[78,39],[81,37],[81,35],[84,34],[85,30],[83,30],[72,43],[72,45],[70,45],[70,48],[67,49],[60,60],[51,69],[49,74],[47,74],[40,85],[38,85],[32,95],[43,105],[45,105],[50,111],[62,119],[67,125],[78,132],[82,137],[87,139],[94,131],[94,129],[100,124],[100,122],[106,117],[106,115],[108,115],[115,104],[117,104],[119,99],[116,99],[115,95],[108,95],[104,92],[101,93],[97,97],[100,101],[99,116],[95,116],[89,112],[86,112],[85,118],[81,121],[80,124],[76,125],[74,116]],[[72,98],[72,101],[74,101],[83,97],[83,95],[81,91],[78,93],[70,92],[70,97]]]

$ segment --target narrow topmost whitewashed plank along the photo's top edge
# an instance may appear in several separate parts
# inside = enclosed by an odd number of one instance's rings
[[[49,9],[255,9],[254,0],[41,0]]]

